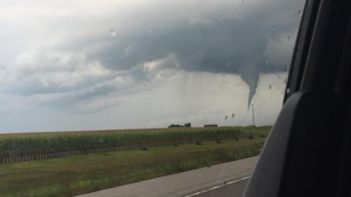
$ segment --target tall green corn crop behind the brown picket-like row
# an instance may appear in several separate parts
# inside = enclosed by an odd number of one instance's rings
[[[154,129],[129,132],[56,132],[55,135],[0,136],[0,158],[117,147],[126,144],[217,140],[267,135],[270,127]]]

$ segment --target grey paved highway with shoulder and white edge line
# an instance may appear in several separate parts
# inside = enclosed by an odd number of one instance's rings
[[[212,165],[76,197],[239,197],[258,158]]]

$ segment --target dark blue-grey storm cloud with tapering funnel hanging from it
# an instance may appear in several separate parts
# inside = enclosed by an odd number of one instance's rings
[[[250,87],[249,106],[259,74],[285,71],[290,55],[285,55],[281,63],[270,62],[269,56],[281,54],[267,53],[267,45],[272,40],[273,43],[279,42],[277,39],[282,34],[296,32],[302,1],[267,1],[260,4],[260,9],[250,9],[250,5],[238,8],[236,5],[213,9],[195,18],[180,17],[180,21],[167,24],[166,28],[155,27],[157,21],[145,13],[144,29],[134,28],[131,32],[117,34],[100,50],[88,53],[87,58],[101,62],[108,69],[131,71],[136,79],[145,79],[146,72],[140,69],[140,65],[173,54],[177,63],[164,64],[163,68],[240,75]],[[243,10],[235,16],[240,9]],[[172,16],[160,14],[160,17],[167,20]],[[148,23],[155,28],[145,29]],[[291,36],[287,36],[286,42],[292,42]],[[291,53],[291,48],[288,53]]]

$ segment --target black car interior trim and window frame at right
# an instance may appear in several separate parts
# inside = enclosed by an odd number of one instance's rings
[[[351,1],[307,0],[280,112],[245,197],[350,196]]]

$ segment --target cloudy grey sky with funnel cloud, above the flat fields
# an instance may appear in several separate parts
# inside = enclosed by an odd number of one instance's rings
[[[0,133],[272,124],[303,4],[1,1]]]

